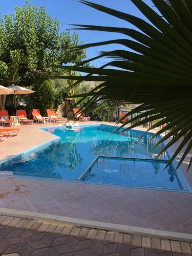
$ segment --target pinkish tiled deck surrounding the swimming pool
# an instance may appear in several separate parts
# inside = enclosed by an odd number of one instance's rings
[[[42,126],[57,125],[23,125],[17,136],[3,138],[0,161],[54,139]],[[190,156],[181,169],[192,187]],[[0,207],[190,234],[191,202],[192,194],[174,191],[0,177]]]

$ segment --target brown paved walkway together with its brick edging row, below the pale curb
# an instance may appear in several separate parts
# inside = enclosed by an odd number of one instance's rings
[[[78,228],[50,223],[35,222],[18,218],[9,218],[15,226],[0,225],[0,254],[19,256],[189,256],[191,253],[173,252],[160,249],[141,247],[142,243],[147,246],[147,239],[134,237],[130,244],[130,237],[123,234],[104,230],[95,233],[89,228]],[[5,219],[6,220],[6,219]],[[7,221],[8,222],[8,221]],[[20,224],[19,224],[20,223]],[[28,229],[24,228],[28,227]],[[40,228],[41,227],[41,228]],[[38,230],[36,230],[38,228]],[[47,231],[45,231],[47,229]],[[90,232],[92,230],[92,232]],[[49,232],[48,232],[49,231]],[[101,232],[102,231],[102,232]],[[57,233],[58,232],[58,233]],[[104,236],[103,236],[104,232]],[[108,233],[108,236],[107,236]],[[116,242],[110,241],[111,234]],[[116,236],[116,238],[115,238]],[[134,241],[135,240],[135,241]],[[164,240],[168,241],[168,240]],[[172,241],[177,243],[177,241]],[[135,243],[135,245],[134,245]],[[140,243],[140,245],[138,245]],[[154,240],[155,243],[155,240]],[[164,243],[166,244],[166,243]],[[188,243],[186,243],[188,244]],[[177,244],[170,244],[176,250]],[[148,245],[149,247],[149,245]],[[184,246],[183,246],[184,248]],[[191,248],[189,248],[191,250]],[[17,254],[16,254],[17,253]]]

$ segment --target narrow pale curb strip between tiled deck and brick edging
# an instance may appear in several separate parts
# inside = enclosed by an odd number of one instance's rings
[[[54,222],[58,224],[66,223],[76,227],[89,227],[89,228],[110,230],[115,232],[133,234],[137,236],[192,242],[192,234],[187,234],[187,233],[170,232],[170,231],[127,226],[127,225],[114,224],[114,223],[75,219],[75,218],[58,216],[58,215],[42,214],[38,212],[1,208],[1,207],[0,207],[0,214],[11,216],[11,217],[33,219],[37,221]]]

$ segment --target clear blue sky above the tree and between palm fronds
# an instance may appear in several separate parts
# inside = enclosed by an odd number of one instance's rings
[[[131,0],[90,0],[90,2],[108,6],[122,12],[126,12],[137,17],[147,20],[142,13],[134,6]],[[144,2],[154,8],[151,0]],[[25,0],[0,0],[0,15],[14,13],[15,6],[25,5]],[[94,10],[91,7],[79,3],[77,0],[31,0],[31,4],[45,6],[46,12],[53,18],[57,18],[60,22],[60,30],[74,28],[69,24],[86,24],[112,27],[135,28],[131,24],[111,15]],[[155,10],[155,8],[154,8]],[[74,30],[75,31],[75,30]],[[72,31],[71,31],[72,32]],[[91,42],[126,38],[118,33],[97,32],[97,31],[77,31],[79,40],[88,44]],[[88,58],[97,56],[100,51],[110,51],[114,49],[122,49],[119,45],[108,45],[104,47],[94,47],[87,50]],[[91,62],[91,65],[100,67],[109,60],[106,58],[98,59]]]

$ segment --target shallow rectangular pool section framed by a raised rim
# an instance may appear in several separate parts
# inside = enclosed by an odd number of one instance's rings
[[[172,165],[165,160],[98,157],[80,177],[91,183],[183,190]]]

